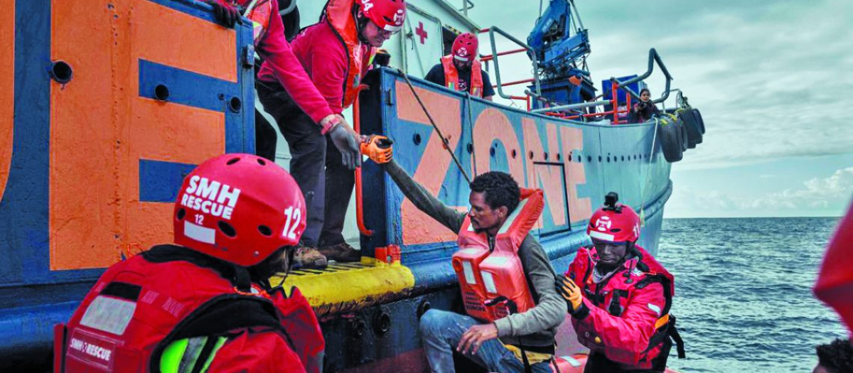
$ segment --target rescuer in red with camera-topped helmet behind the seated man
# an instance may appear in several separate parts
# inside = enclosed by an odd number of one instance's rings
[[[585,373],[663,372],[672,339],[684,350],[670,315],[675,278],[636,244],[640,217],[610,192],[589,218],[594,247],[577,256],[557,287],[577,341],[589,347]]]

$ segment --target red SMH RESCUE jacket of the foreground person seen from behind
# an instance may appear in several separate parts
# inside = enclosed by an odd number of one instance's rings
[[[156,373],[166,347],[196,337],[223,341],[200,350],[210,372],[319,372],[325,346],[299,290],[268,293],[243,267],[160,245],[109,267],[57,325],[55,371]]]

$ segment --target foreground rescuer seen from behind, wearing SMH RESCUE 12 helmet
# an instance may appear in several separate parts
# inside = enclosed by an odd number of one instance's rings
[[[200,164],[183,181],[175,244],[107,268],[57,325],[60,372],[320,372],[325,341],[287,272],[305,200],[280,166],[249,154]]]

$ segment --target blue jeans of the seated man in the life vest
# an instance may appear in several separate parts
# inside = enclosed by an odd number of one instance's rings
[[[473,325],[480,324],[474,318],[431,309],[421,317],[421,341],[427,354],[432,373],[454,373],[453,350],[462,334]],[[485,341],[476,354],[466,354],[467,359],[488,369],[490,372],[525,373],[525,364],[504,347],[501,341]],[[535,373],[550,373],[548,362],[533,364]]]

